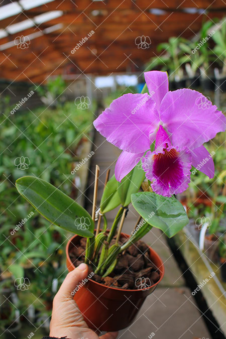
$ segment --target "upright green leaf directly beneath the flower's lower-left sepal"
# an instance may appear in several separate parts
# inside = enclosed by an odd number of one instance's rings
[[[139,191],[144,178],[145,172],[141,168],[141,162],[139,162],[121,182],[118,182],[118,194],[123,206],[129,205],[131,194]]]

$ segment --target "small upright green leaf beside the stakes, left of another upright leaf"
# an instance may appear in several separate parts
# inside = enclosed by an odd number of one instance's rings
[[[120,205],[121,201],[117,189],[118,181],[114,174],[107,182],[100,200],[100,210],[102,213],[109,212]]]

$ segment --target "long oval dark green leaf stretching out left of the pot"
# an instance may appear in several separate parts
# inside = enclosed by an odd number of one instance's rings
[[[93,237],[94,223],[89,213],[58,188],[32,176],[18,179],[16,187],[47,220],[81,237]]]

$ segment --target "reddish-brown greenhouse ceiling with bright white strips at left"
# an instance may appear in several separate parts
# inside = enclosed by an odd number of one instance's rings
[[[1,79],[42,83],[62,73],[140,71],[157,44],[191,38],[204,20],[225,13],[223,0],[2,1]]]

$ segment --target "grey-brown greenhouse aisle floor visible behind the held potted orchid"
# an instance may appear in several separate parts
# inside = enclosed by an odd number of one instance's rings
[[[109,144],[99,133],[95,133],[93,141],[94,155],[91,158],[86,204],[91,212],[93,194],[93,179],[95,165],[100,167],[98,197],[103,190],[106,170],[110,168],[114,173],[116,159],[120,150]],[[99,202],[99,201],[98,201]],[[109,222],[114,219],[115,212],[109,212]],[[130,207],[125,220],[123,232],[130,234],[138,219],[137,212]],[[160,255],[165,266],[165,276],[156,290],[146,299],[134,323],[120,331],[119,338],[152,338],[156,339],[198,339],[209,338],[210,334],[205,326],[191,291],[186,287],[176,261],[165,241],[163,234],[155,229],[144,241],[151,245]]]

